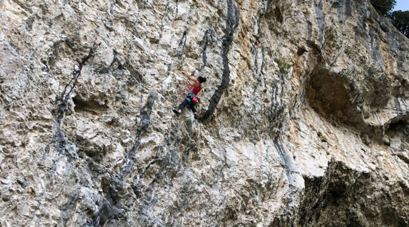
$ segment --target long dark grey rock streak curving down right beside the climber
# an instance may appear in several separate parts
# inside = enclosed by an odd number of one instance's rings
[[[227,0],[227,9],[226,28],[224,30],[221,52],[221,58],[223,59],[223,74],[221,77],[221,83],[210,98],[209,107],[206,110],[205,114],[199,117],[198,121],[200,122],[208,119],[211,115],[213,115],[214,110],[216,109],[216,106],[220,101],[221,95],[224,92],[224,89],[226,89],[230,83],[229,58],[227,55],[229,53],[230,44],[232,44],[233,41],[234,30],[237,28],[237,26],[239,26],[240,12],[239,8],[236,6],[236,4],[233,3],[232,0]]]

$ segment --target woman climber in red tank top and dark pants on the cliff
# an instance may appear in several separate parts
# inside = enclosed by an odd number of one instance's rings
[[[189,81],[190,88],[188,91],[188,94],[186,95],[186,99],[180,104],[179,108],[177,110],[173,110],[173,112],[176,115],[180,115],[182,110],[189,106],[190,109],[192,110],[193,114],[195,115],[195,119],[197,119],[197,114],[196,114],[196,103],[197,103],[197,94],[199,93],[201,89],[201,84],[206,82],[206,78],[204,77],[198,77],[197,79],[191,77],[188,73],[185,71],[182,71],[182,73],[189,78],[191,81]]]

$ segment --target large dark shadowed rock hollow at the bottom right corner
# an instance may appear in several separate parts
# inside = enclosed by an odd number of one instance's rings
[[[323,176],[305,179],[300,226],[405,226],[409,188],[370,172],[330,162]],[[385,180],[387,181],[385,183]]]

